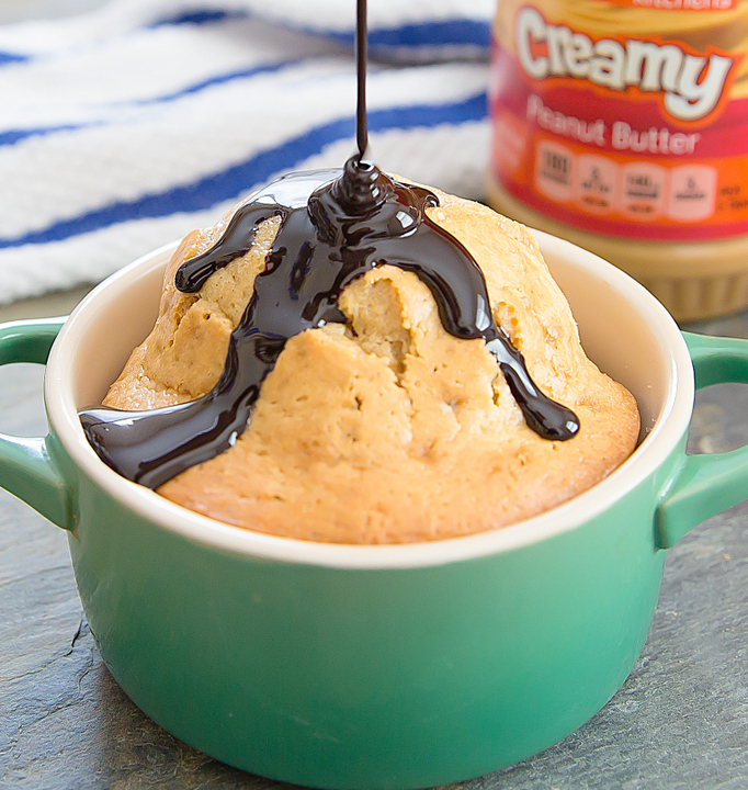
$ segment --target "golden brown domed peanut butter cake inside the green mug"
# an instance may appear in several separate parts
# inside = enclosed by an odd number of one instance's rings
[[[589,488],[633,450],[632,395],[587,359],[566,298],[528,230],[433,190],[429,216],[484,272],[497,323],[535,383],[579,417],[574,439],[526,425],[483,339],[442,326],[418,275],[381,266],[339,300],[345,324],[291,338],[234,447],[160,486],[197,512],[260,532],[336,543],[438,540],[503,527]],[[158,320],[104,404],[185,403],[217,382],[229,336],[264,268],[279,219],[197,294],[175,270],[228,217],[190,234],[165,274]]]

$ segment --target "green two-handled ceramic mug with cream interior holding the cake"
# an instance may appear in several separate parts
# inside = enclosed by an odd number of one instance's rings
[[[748,448],[683,451],[693,369],[699,386],[748,381],[748,342],[684,339],[621,271],[539,238],[588,353],[635,394],[643,440],[560,507],[450,541],[243,531],[99,461],[76,413],[152,325],[173,247],[110,278],[67,321],[0,327],[2,363],[44,363],[52,347],[49,435],[2,438],[0,483],[69,531],[101,655],[149,716],[268,777],[401,789],[528,757],[611,698],[647,636],[662,550],[748,496]]]

